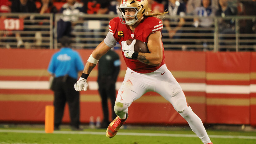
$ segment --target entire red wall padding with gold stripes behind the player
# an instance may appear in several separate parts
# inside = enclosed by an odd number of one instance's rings
[[[0,81],[47,81],[46,75],[26,75],[19,70],[46,70],[53,53],[57,50],[0,50]],[[92,50],[78,50],[84,63]],[[121,70],[126,70],[121,50],[117,51],[121,58]],[[165,51],[165,61],[168,69],[181,84],[206,84],[206,85],[244,85],[253,83],[250,79],[218,79],[209,75],[219,74],[250,74],[256,72],[252,69],[256,61],[256,53],[214,53],[214,52],[187,52]],[[254,63],[253,63],[254,62]],[[95,68],[97,69],[97,67]],[[13,75],[6,74],[6,70],[16,70]],[[251,71],[252,70],[252,71]],[[208,75],[209,74],[209,75]],[[121,82],[124,78],[120,74]],[[88,81],[96,81],[96,75],[90,75]],[[256,79],[254,79],[256,81]],[[206,86],[207,89],[207,86]],[[253,94],[218,94],[205,91],[184,90],[188,103],[193,111],[204,123],[227,124],[255,124],[256,117],[252,112],[256,105],[246,104],[230,105],[229,99],[247,100]],[[81,101],[81,122],[88,123],[89,118],[100,116],[102,118],[101,103],[97,90],[81,92],[84,98]],[[95,98],[92,97],[95,95]],[[12,98],[8,98],[12,97]],[[35,99],[37,98],[38,99]],[[156,101],[149,100],[150,98]],[[24,98],[24,99],[22,99]],[[49,100],[50,98],[50,100]],[[196,99],[194,99],[196,98]],[[256,98],[254,94],[254,98]],[[2,89],[0,87],[0,121],[2,122],[44,122],[44,110],[46,105],[52,105],[53,93],[50,90],[32,89]],[[216,99],[221,101],[215,103]],[[159,94],[147,93],[135,101],[129,108],[129,120],[131,124],[186,124],[186,121],[174,110],[172,105]],[[110,108],[110,107],[109,107]],[[67,107],[63,122],[69,122]]]

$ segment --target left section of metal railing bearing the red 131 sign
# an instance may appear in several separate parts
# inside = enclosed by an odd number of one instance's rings
[[[53,48],[53,14],[0,13],[1,48]]]

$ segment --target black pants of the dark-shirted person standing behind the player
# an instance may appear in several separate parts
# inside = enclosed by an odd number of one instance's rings
[[[109,82],[109,83],[106,83]],[[116,118],[116,113],[114,111],[114,105],[116,102],[116,85],[115,83],[111,83],[110,81],[100,82],[99,84],[99,93],[101,96],[101,105],[103,111],[103,120],[102,124],[109,124],[109,111],[108,111],[108,98],[111,101],[111,111],[112,111],[112,120]]]

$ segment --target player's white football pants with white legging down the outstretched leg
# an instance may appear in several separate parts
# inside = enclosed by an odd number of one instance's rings
[[[175,110],[186,119],[192,131],[204,144],[210,142],[201,119],[188,107],[180,84],[166,65],[148,74],[140,74],[127,68],[124,81],[117,93],[116,102],[130,106],[133,101],[150,91],[160,94],[169,101]],[[127,110],[128,108],[124,109],[124,111]]]

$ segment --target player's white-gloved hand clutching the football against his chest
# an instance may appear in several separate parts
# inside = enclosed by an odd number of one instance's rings
[[[124,41],[122,43],[122,50],[124,52],[124,56],[127,58],[137,59],[138,53],[134,52],[134,45],[136,43],[136,40],[134,39],[130,45],[127,45],[127,41]]]

